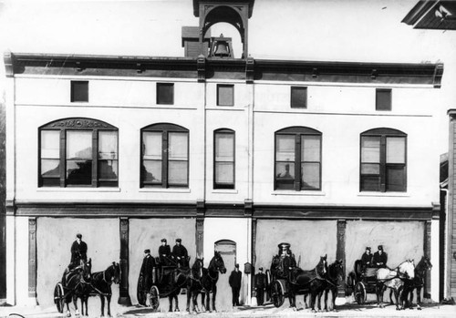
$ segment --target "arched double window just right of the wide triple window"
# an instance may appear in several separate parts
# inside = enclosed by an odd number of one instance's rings
[[[189,130],[161,123],[141,129],[142,188],[189,186]]]

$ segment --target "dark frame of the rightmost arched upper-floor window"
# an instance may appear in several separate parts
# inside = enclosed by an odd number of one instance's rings
[[[362,173],[362,139],[363,137],[376,137],[380,138],[380,146],[379,146],[379,190],[363,190],[363,176],[369,176],[369,174]],[[388,138],[404,138],[404,163],[388,163],[387,162],[387,142]],[[359,192],[379,192],[379,193],[387,193],[387,192],[407,192],[407,168],[408,168],[408,136],[406,133],[394,129],[394,128],[373,128],[367,131],[362,132],[359,135]],[[402,167],[404,171],[403,177],[403,184],[402,190],[388,190],[389,183],[388,183],[388,168],[391,167]],[[371,176],[374,176],[371,174]],[[377,175],[375,175],[377,176]]]

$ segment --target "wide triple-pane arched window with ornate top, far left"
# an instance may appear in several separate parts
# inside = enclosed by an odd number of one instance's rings
[[[118,128],[67,118],[39,128],[39,187],[117,187]]]

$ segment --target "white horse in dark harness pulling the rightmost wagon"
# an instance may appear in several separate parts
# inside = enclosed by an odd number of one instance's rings
[[[390,288],[394,292],[396,298],[396,310],[400,310],[399,295],[402,292],[405,279],[412,280],[415,277],[415,263],[413,260],[408,260],[399,264],[394,270],[388,268],[380,268],[377,271],[377,304],[383,307],[383,292]]]

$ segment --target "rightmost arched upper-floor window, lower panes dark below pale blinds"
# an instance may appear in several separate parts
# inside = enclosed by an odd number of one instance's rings
[[[391,128],[361,134],[360,191],[407,190],[407,135]]]

